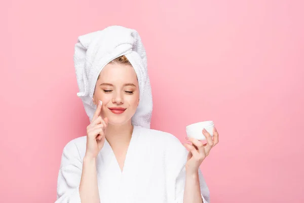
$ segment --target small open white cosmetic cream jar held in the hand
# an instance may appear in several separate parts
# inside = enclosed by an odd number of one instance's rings
[[[207,132],[213,137],[213,127],[214,123],[213,121],[203,121],[194,123],[191,125],[186,126],[186,133],[188,138],[194,138],[197,140],[206,140],[203,129],[205,128]]]

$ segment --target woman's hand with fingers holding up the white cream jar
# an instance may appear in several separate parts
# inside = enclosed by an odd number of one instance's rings
[[[211,148],[218,143],[218,132],[213,128],[213,139],[207,130],[203,129],[203,134],[206,137],[207,143],[203,144],[201,141],[194,138],[186,139],[192,143],[184,143],[185,148],[189,151],[186,162],[186,172],[197,174],[203,160],[209,155]]]

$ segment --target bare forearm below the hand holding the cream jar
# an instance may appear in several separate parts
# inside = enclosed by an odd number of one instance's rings
[[[199,173],[187,173],[183,203],[202,203]]]

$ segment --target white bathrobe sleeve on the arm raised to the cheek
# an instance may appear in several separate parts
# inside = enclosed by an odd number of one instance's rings
[[[56,203],[81,202],[79,185],[82,165],[79,151],[72,140],[63,149],[57,181]]]

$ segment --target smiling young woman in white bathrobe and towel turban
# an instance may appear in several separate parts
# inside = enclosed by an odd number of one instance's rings
[[[218,133],[203,130],[207,144],[182,145],[149,128],[150,83],[136,30],[110,26],[79,37],[74,62],[90,124],[63,149],[56,202],[209,202],[199,166]]]

